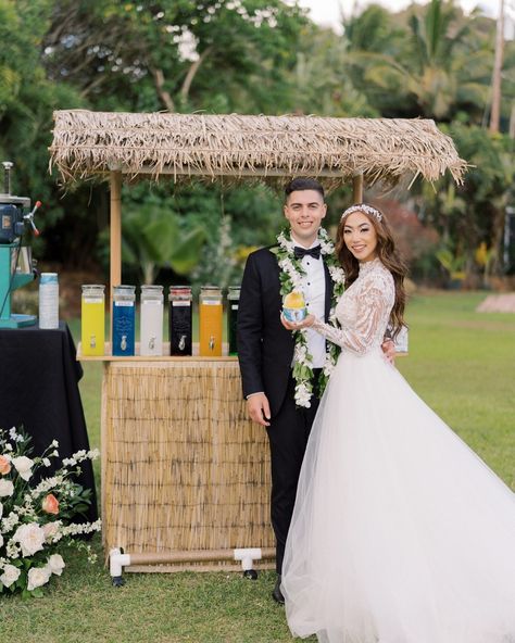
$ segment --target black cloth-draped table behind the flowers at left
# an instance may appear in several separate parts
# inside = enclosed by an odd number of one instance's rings
[[[0,428],[24,426],[33,438],[34,455],[52,440],[59,441],[60,458],[89,450],[78,382],[83,367],[75,358],[75,344],[66,324],[54,330],[37,325],[0,329]],[[59,468],[59,459],[52,461]],[[91,489],[88,520],[98,517],[93,470],[80,463],[78,482]],[[46,469],[51,472],[52,469]]]

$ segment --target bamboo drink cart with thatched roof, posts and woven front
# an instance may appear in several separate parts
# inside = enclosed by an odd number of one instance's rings
[[[54,113],[50,154],[64,182],[109,180],[111,289],[122,282],[123,180],[313,176],[326,188],[352,181],[360,202],[365,182],[434,181],[447,171],[461,182],[466,169],[452,140],[419,118],[68,110]],[[268,447],[246,418],[237,361],[100,360],[103,541],[114,551],[113,576],[123,566],[250,569],[255,558],[269,560]]]

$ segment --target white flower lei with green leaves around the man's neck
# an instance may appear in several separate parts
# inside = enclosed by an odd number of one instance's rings
[[[321,254],[329,270],[332,280],[332,299],[330,303],[329,322],[337,324],[335,318],[336,304],[343,293],[346,276],[335,256],[335,244],[324,228],[318,229],[318,241],[321,242]],[[280,268],[280,294],[285,297],[292,290],[302,290],[305,270],[302,267],[302,261],[296,259],[293,249],[294,242],[291,240],[289,230],[282,231],[277,237],[278,248],[273,248],[272,252],[277,256],[277,263]],[[294,400],[297,406],[309,408],[311,406],[311,396],[313,394],[313,356],[307,351],[306,330],[293,331],[296,340],[293,353],[293,379],[296,380]],[[330,341],[326,342],[326,358],[318,380],[318,395],[322,396],[327,386],[336,361],[340,353],[340,348]]]

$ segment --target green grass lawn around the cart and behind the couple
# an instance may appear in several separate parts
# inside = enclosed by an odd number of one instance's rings
[[[398,360],[418,394],[515,489],[515,315],[476,313],[485,293],[416,294],[407,310],[410,355]],[[79,324],[70,324],[78,337]],[[100,446],[101,366],[80,383],[91,446]],[[97,463],[98,465],[98,463]],[[97,466],[97,476],[99,467]],[[291,641],[269,596],[274,573],[126,575],[111,587],[99,563],[74,551],[45,597],[0,598],[0,634],[24,643],[272,643]]]

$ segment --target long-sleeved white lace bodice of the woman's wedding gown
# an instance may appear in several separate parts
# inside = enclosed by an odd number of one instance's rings
[[[357,279],[346,290],[336,306],[341,328],[315,319],[312,328],[326,339],[364,354],[380,346],[395,299],[391,273],[379,259],[360,266]]]

